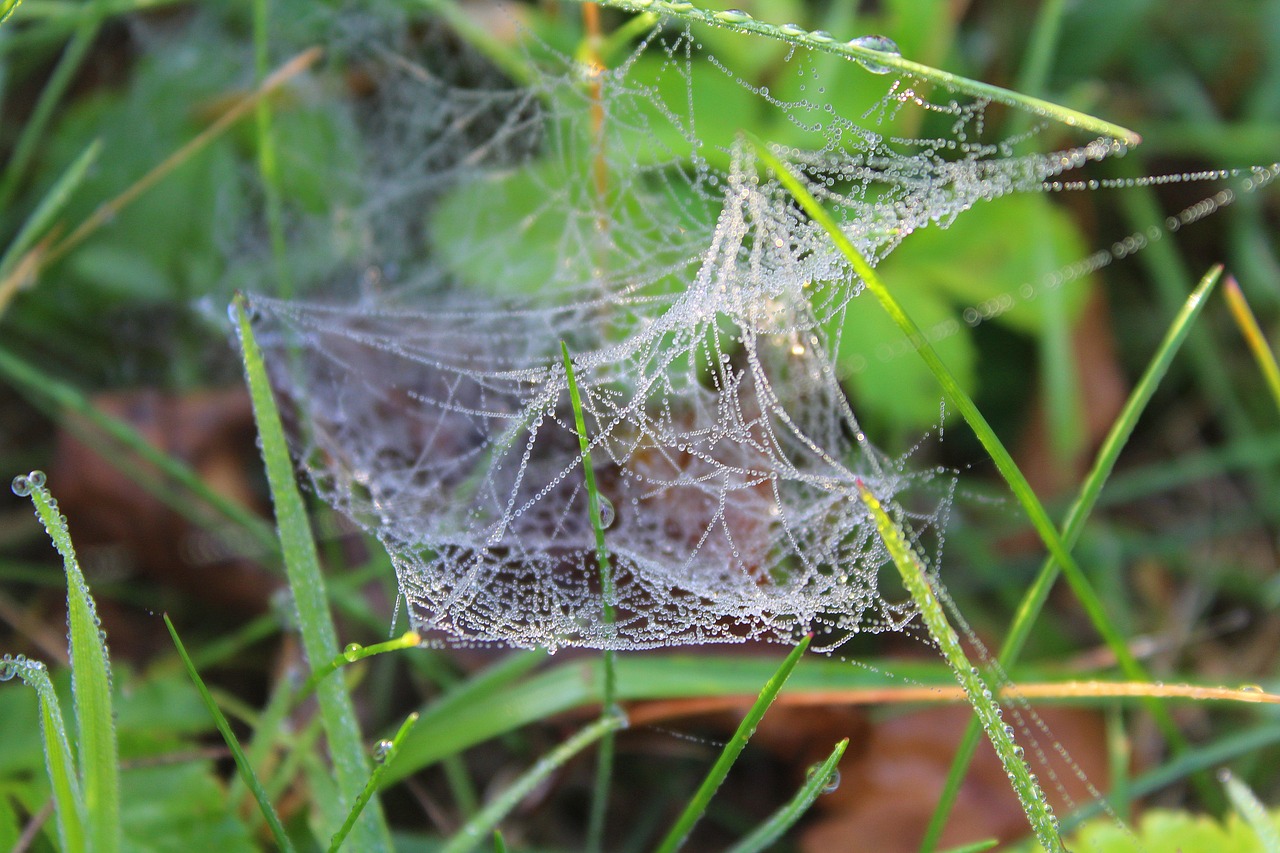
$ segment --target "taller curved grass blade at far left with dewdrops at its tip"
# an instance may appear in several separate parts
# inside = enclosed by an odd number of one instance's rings
[[[36,517],[49,533],[67,571],[72,697],[86,829],[93,849],[110,853],[120,849],[120,758],[115,742],[115,716],[111,711],[111,665],[106,654],[106,639],[72,546],[67,519],[45,487],[45,475],[32,471],[26,478],[15,478],[13,489],[19,494],[26,489],[29,494],[36,506]]]

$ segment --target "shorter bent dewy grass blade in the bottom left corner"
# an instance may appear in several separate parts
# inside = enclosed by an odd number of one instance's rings
[[[49,771],[49,784],[54,792],[58,839],[61,841],[63,850],[81,853],[88,848],[84,836],[84,797],[76,775],[72,747],[67,739],[63,708],[58,702],[58,694],[54,693],[54,684],[49,680],[49,670],[38,661],[5,654],[0,658],[0,681],[8,681],[14,675],[33,689],[40,701],[40,733],[45,742],[45,767]]]

